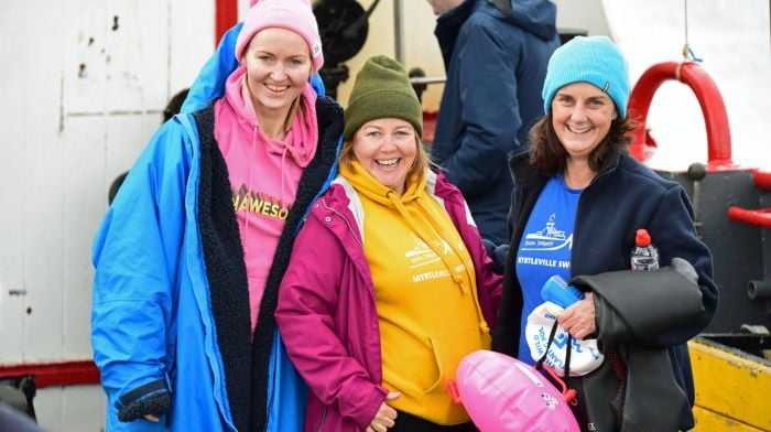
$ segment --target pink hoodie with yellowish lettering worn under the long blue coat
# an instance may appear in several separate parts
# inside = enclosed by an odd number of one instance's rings
[[[214,134],[228,165],[232,202],[241,234],[249,281],[252,331],[260,311],[273,252],[292,209],[303,170],[316,153],[316,93],[305,85],[301,107],[284,140],[269,139],[238,67],[215,104]]]

